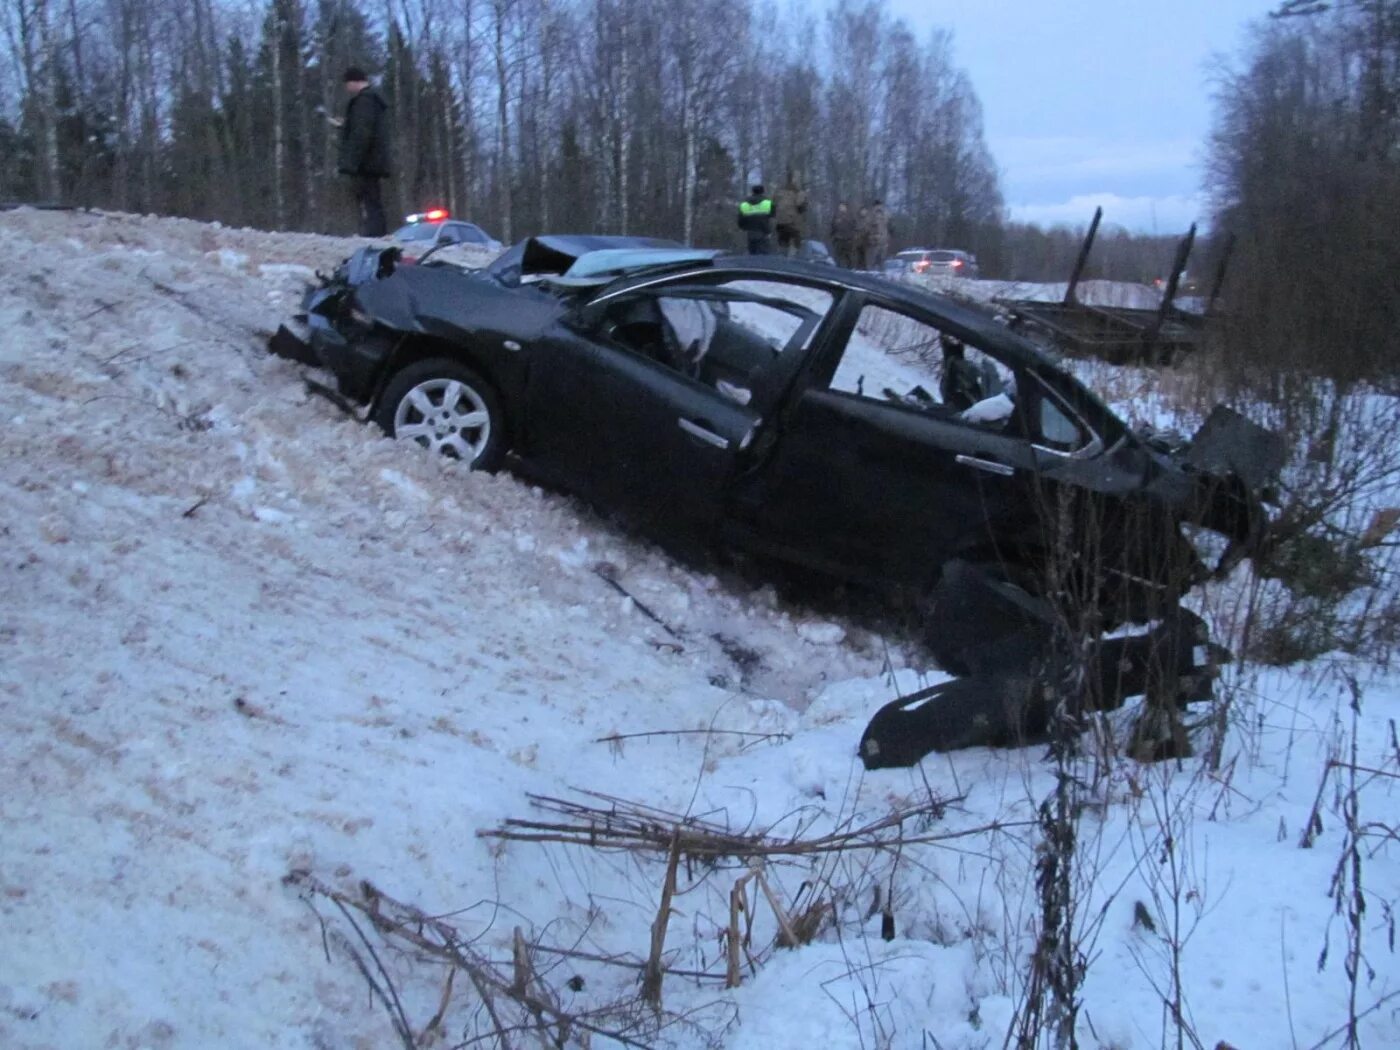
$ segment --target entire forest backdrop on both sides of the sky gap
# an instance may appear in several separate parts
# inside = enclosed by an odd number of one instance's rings
[[[1260,346],[1277,318],[1301,360],[1400,328],[1400,0],[1319,7],[1284,3],[1224,77],[1210,169],[1215,228],[1242,234],[1232,315]],[[748,181],[792,168],[812,232],[882,197],[895,248],[969,248],[988,276],[1063,280],[1082,235],[1005,221],[949,35],[883,0],[0,0],[0,199],[349,232],[328,118],[360,64],[392,106],[391,214],[729,245]],[[1107,225],[1086,276],[1163,276],[1173,239]]]

